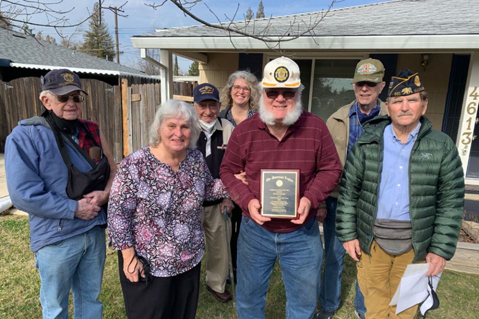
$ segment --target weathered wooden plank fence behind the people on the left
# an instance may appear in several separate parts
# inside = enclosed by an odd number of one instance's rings
[[[148,144],[148,130],[160,105],[159,83],[129,84],[124,78],[120,87],[96,79],[81,81],[88,93],[81,118],[98,123],[116,162]],[[0,153],[18,121],[41,114],[40,92],[37,77],[0,81]],[[175,84],[175,94],[192,96],[193,83]]]

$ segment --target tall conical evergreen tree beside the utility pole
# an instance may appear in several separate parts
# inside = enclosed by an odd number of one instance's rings
[[[83,34],[85,42],[81,47],[81,51],[100,58],[106,58],[113,61],[115,50],[113,48],[113,39],[108,32],[108,26],[104,22],[103,12],[98,10],[98,3],[93,6],[95,12],[89,22],[89,30]],[[101,21],[100,24],[100,14]]]

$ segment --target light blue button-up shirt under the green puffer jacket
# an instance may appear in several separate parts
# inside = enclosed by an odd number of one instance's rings
[[[409,158],[421,123],[408,135],[406,143],[396,137],[392,124],[384,130],[383,171],[379,184],[376,218],[411,220],[409,216]]]

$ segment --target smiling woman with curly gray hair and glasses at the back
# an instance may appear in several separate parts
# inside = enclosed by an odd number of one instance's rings
[[[258,80],[248,71],[236,71],[228,78],[223,89],[222,105],[227,108],[219,117],[225,118],[236,127],[242,121],[256,113],[258,109]]]

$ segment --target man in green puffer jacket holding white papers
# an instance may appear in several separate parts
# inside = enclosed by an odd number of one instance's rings
[[[336,233],[357,261],[367,319],[412,319],[418,306],[389,306],[406,266],[440,274],[453,257],[464,209],[458,151],[424,117],[427,93],[411,70],[392,77],[389,116],[367,123],[341,178]],[[365,254],[362,254],[364,252]]]

